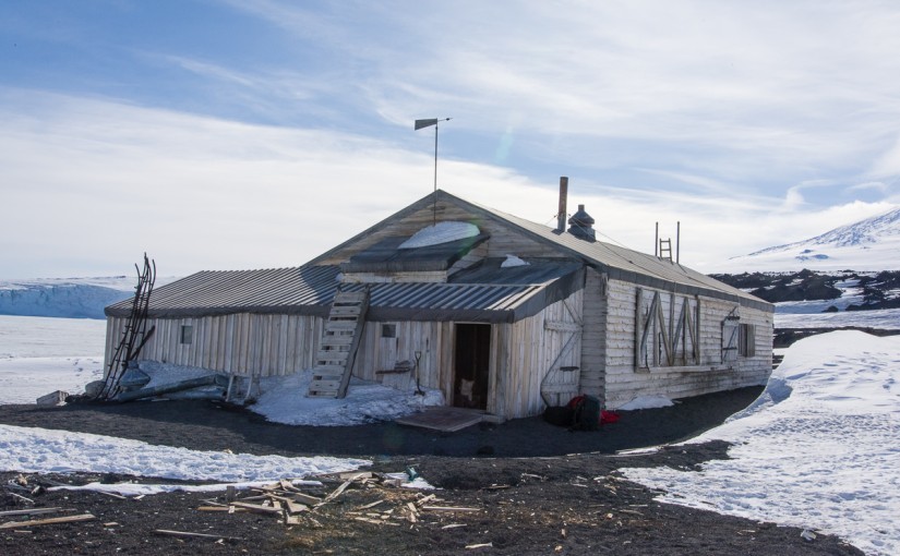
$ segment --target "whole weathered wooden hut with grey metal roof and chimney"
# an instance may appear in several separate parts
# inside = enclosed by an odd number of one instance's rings
[[[243,377],[316,368],[310,394],[323,396],[340,396],[350,374],[418,383],[497,419],[578,394],[615,409],[765,383],[772,305],[596,241],[584,207],[565,223],[439,190],[303,266],[158,288],[141,359]],[[107,363],[130,309],[106,310]]]

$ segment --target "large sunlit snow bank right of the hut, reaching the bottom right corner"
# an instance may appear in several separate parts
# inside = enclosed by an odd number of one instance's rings
[[[733,443],[697,472],[623,469],[660,500],[840,535],[900,553],[900,337],[797,341],[763,396],[689,443]]]

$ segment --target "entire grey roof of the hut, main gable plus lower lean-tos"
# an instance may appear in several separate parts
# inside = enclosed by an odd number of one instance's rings
[[[452,276],[447,283],[374,283],[371,285],[370,318],[515,321],[535,314],[563,299],[560,295],[568,295],[581,288],[586,264],[611,278],[773,311],[771,304],[758,298],[670,261],[605,242],[580,240],[571,233],[560,233],[547,226],[476,205],[444,191],[437,191],[437,198],[518,229],[526,237],[553,245],[561,256],[569,258],[563,263],[560,259],[535,259],[531,265],[512,268],[500,268],[500,259],[489,259]],[[302,267],[202,271],[166,285],[153,292],[151,316],[238,312],[325,315],[337,288],[339,269],[334,265],[316,265],[315,262],[432,203],[434,196],[428,195]],[[441,253],[441,256],[444,254]],[[107,307],[107,314],[124,316],[130,310],[131,302],[123,301]]]

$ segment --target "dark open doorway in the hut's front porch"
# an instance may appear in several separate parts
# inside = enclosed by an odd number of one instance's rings
[[[488,409],[488,376],[491,367],[491,325],[456,325],[453,404]]]

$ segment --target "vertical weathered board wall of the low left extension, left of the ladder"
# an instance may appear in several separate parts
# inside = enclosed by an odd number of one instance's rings
[[[106,368],[121,340],[125,318],[107,318]],[[153,337],[140,360],[197,366],[239,375],[286,375],[313,365],[323,319],[305,315],[231,315],[151,318]],[[181,343],[182,326],[193,327],[191,343]]]

